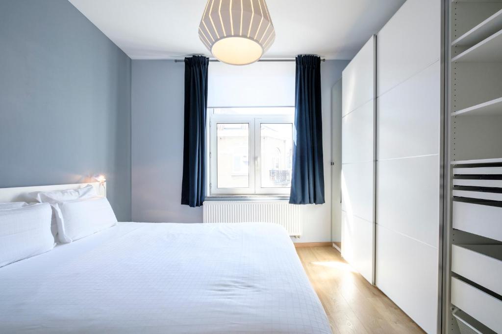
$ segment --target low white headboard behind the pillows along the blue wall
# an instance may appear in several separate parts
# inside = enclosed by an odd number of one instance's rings
[[[0,203],[4,202],[29,202],[30,198],[27,193],[33,191],[61,191],[68,189],[79,189],[86,185],[92,185],[96,188],[96,192],[102,196],[106,196],[106,182],[91,183],[75,183],[75,184],[57,184],[52,186],[34,186],[34,187],[17,187],[17,188],[0,188]]]

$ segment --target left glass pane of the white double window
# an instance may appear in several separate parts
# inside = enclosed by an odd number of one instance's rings
[[[216,124],[218,188],[249,187],[249,124]]]

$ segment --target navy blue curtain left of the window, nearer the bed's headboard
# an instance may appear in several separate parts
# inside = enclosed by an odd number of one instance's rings
[[[209,58],[185,58],[185,128],[181,204],[201,206],[206,195],[206,109]]]

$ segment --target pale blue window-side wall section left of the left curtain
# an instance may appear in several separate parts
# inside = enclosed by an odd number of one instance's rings
[[[134,60],[133,221],[201,223],[202,209],[181,205],[185,65]]]

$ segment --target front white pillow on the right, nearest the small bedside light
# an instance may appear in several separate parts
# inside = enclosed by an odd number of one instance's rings
[[[60,242],[72,242],[117,224],[105,197],[54,204]]]

